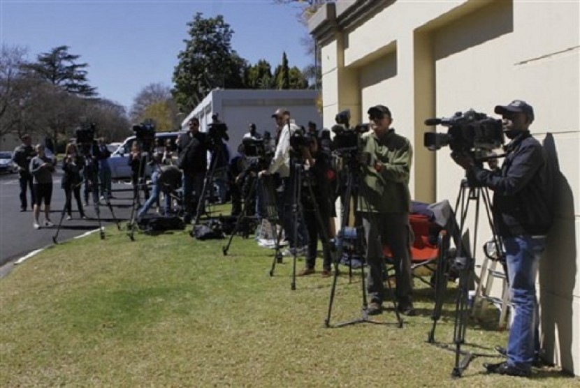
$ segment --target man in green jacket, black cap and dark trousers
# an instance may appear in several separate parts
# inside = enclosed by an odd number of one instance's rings
[[[368,313],[382,312],[382,246],[389,244],[395,261],[397,308],[405,315],[414,315],[409,255],[409,172],[413,150],[407,138],[390,128],[393,118],[388,107],[371,107],[368,118],[372,130],[361,136],[364,178],[357,201],[367,241]]]

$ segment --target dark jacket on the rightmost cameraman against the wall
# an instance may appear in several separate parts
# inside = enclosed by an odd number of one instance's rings
[[[542,144],[525,132],[507,144],[506,151],[501,170],[473,167],[467,178],[493,190],[500,236],[546,234],[553,217],[554,174]]]

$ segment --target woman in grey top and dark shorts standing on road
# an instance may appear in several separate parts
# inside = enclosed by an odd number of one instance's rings
[[[55,171],[55,165],[52,159],[44,153],[42,144],[36,145],[36,156],[30,161],[30,173],[34,177],[34,229],[40,229],[38,216],[41,214],[41,204],[44,201],[44,225],[48,227],[55,226],[50,221],[50,200],[52,199],[52,172]]]

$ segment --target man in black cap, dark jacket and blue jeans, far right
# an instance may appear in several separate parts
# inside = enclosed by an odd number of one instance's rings
[[[507,355],[500,364],[484,364],[488,373],[529,376],[539,361],[535,280],[539,255],[553,216],[553,175],[542,145],[530,135],[533,108],[522,100],[497,105],[502,115],[507,156],[500,170],[486,170],[470,154],[454,152],[454,161],[467,173],[467,181],[493,190],[496,232],[502,237],[514,321],[509,329]]]

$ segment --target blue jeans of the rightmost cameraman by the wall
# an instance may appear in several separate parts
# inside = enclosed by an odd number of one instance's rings
[[[509,299],[514,322],[507,340],[507,362],[525,371],[534,361],[537,336],[536,275],[540,253],[546,239],[523,235],[503,239],[505,246]],[[539,350],[539,349],[538,349]]]

